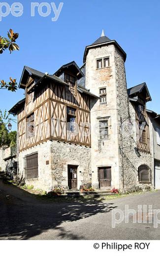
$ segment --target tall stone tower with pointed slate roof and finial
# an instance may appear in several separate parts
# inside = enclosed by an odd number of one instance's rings
[[[92,101],[92,181],[95,188],[122,188],[120,124],[128,118],[126,53],[102,35],[86,47],[86,88],[100,98]],[[125,109],[125,111],[124,111]]]

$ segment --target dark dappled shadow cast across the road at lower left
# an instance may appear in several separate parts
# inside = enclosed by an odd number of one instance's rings
[[[13,185],[8,186],[12,188]],[[13,188],[13,190],[16,189],[20,190]],[[29,202],[28,197],[31,197],[31,194],[25,191],[21,199],[17,199],[13,194],[10,194],[10,198],[7,199],[6,191],[3,191],[3,197],[0,193],[0,240],[34,239],[35,236],[52,229],[57,236],[56,238],[51,236],[49,239],[84,239],[83,235],[77,236],[66,232],[61,224],[110,212],[116,207],[113,203],[105,203],[100,198],[85,200],[78,198],[67,202],[61,202],[61,200],[59,202],[57,199],[47,202],[32,196]]]

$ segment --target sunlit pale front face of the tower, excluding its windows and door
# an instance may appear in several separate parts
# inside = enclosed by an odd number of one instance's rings
[[[91,152],[93,186],[99,188],[98,167],[111,167],[111,188],[119,188],[119,159],[116,109],[115,56],[114,45],[101,46],[89,50],[86,58],[86,88],[99,95],[100,88],[106,88],[107,102],[99,99],[91,102]],[[109,57],[109,66],[96,69],[96,59]],[[108,120],[109,136],[99,137],[99,121]],[[110,188],[108,188],[110,189]]]

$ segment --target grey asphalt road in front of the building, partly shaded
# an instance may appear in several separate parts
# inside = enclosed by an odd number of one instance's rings
[[[160,224],[133,223],[129,215],[112,228],[112,211],[125,205],[138,210],[138,205],[152,205],[160,209],[160,191],[109,200],[85,202],[48,202],[36,199],[12,185],[0,180],[0,240],[109,240],[149,239],[160,240]],[[119,215],[116,216],[119,219]],[[160,214],[158,215],[160,219]]]

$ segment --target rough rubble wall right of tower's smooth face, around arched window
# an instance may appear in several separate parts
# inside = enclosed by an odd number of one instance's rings
[[[116,84],[117,84],[117,110],[119,118],[119,158],[121,189],[132,190],[136,186],[145,187],[146,184],[138,183],[138,167],[147,164],[152,170],[152,185],[154,184],[153,172],[153,146],[151,153],[138,152],[136,143],[135,108],[128,101],[125,65],[122,55],[115,50]],[[122,119],[121,119],[122,118]],[[122,124],[122,126],[121,126]],[[150,126],[150,141],[152,137],[152,124]]]

